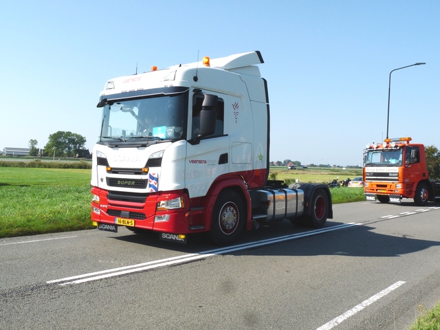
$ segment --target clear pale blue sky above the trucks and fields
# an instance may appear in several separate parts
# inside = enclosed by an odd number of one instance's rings
[[[72,131],[91,149],[110,78],[259,50],[270,160],[356,165],[389,137],[440,148],[440,1],[8,1],[0,148]]]

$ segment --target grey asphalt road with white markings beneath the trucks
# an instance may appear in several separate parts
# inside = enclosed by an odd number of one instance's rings
[[[219,249],[86,230],[0,239],[0,329],[406,329],[440,300],[440,204],[333,206]]]

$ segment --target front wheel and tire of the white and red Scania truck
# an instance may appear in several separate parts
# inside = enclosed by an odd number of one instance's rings
[[[238,192],[220,192],[212,211],[211,236],[218,245],[229,245],[241,234],[245,225],[245,206]]]

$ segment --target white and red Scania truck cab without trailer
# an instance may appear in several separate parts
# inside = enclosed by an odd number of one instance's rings
[[[268,180],[262,63],[248,52],[108,80],[97,106],[94,224],[130,219],[129,230],[173,241],[210,232],[219,245],[267,221],[325,225],[326,185]]]

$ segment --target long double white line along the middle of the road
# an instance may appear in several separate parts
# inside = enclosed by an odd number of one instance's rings
[[[260,247],[263,245],[279,243],[282,241],[289,241],[292,239],[300,239],[302,237],[313,236],[316,234],[323,234],[325,232],[331,232],[333,230],[347,229],[347,228],[351,228],[355,225],[362,225],[362,223],[347,223],[347,224],[343,224],[343,225],[335,225],[335,226],[329,227],[329,228],[321,228],[318,230],[311,230],[309,232],[303,232],[303,233],[299,233],[299,234],[280,236],[280,237],[275,237],[273,239],[265,239],[263,241],[243,243],[243,244],[239,244],[239,245],[232,245],[232,246],[226,247],[226,248],[219,248],[219,249],[215,249],[215,250],[208,250],[208,251],[197,252],[197,253],[192,253],[192,254],[184,254],[182,256],[174,256],[174,257],[167,258],[167,259],[148,261],[146,263],[140,263],[137,265],[129,265],[129,266],[124,266],[124,267],[113,268],[111,270],[102,270],[99,272],[92,272],[89,274],[69,276],[69,277],[65,277],[65,278],[60,278],[58,280],[47,281],[46,283],[48,283],[48,284],[58,283],[58,285],[69,285],[69,284],[78,284],[78,283],[84,283],[84,282],[89,282],[89,281],[96,281],[96,280],[99,280],[102,278],[120,276],[123,274],[129,274],[129,273],[133,273],[133,272],[141,272],[143,270],[151,270],[153,268],[164,267],[164,266],[168,266],[168,265],[176,265],[179,263],[186,263],[188,261],[195,261],[195,260],[199,260],[199,259],[206,259],[209,256],[215,256],[215,255],[219,255],[219,254],[225,254],[225,253],[229,253],[229,252],[245,250],[248,248],[257,248],[257,247]]]

